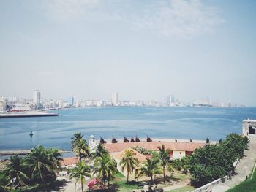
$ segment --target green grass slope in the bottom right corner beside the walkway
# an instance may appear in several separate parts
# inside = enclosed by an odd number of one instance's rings
[[[241,182],[239,185],[236,185],[234,188],[231,188],[227,192],[255,192],[256,191],[256,170],[253,173],[252,180],[247,179]]]

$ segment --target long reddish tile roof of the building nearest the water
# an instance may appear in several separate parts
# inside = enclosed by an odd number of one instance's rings
[[[140,146],[147,150],[158,150],[157,147],[165,145],[165,149],[193,152],[196,148],[203,147],[204,143],[197,142],[118,142],[106,143],[104,146],[110,153],[121,152],[127,148]]]

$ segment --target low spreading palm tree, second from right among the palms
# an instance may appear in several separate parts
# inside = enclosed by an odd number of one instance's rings
[[[138,177],[141,175],[146,175],[151,178],[153,182],[154,174],[161,174],[162,170],[159,167],[159,159],[157,158],[147,158],[146,161],[143,162],[143,166],[140,168],[140,172],[138,173]]]

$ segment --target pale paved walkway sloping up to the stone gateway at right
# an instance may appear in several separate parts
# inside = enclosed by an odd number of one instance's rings
[[[253,167],[255,166],[255,158],[256,158],[256,136],[249,136],[249,150],[244,151],[244,158],[242,158],[235,169],[236,175],[232,177],[231,180],[225,181],[225,183],[219,183],[211,188],[212,192],[224,192],[230,188],[233,188],[235,185],[238,185],[242,181],[246,179],[246,176],[249,177],[251,174]]]

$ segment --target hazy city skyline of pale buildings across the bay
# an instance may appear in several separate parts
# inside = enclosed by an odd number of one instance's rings
[[[5,107],[4,107],[5,106]],[[7,107],[8,106],[8,107]],[[35,90],[32,99],[20,98],[18,96],[5,97],[0,95],[0,110],[6,108],[20,110],[40,110],[48,108],[63,107],[103,107],[103,106],[155,106],[155,107],[246,107],[244,104],[233,101],[223,101],[221,99],[213,100],[208,97],[196,99],[194,101],[181,101],[173,95],[168,95],[164,101],[156,100],[129,100],[119,99],[119,93],[113,92],[108,99],[76,99],[74,96],[68,98],[49,99],[41,97],[41,92]]]

